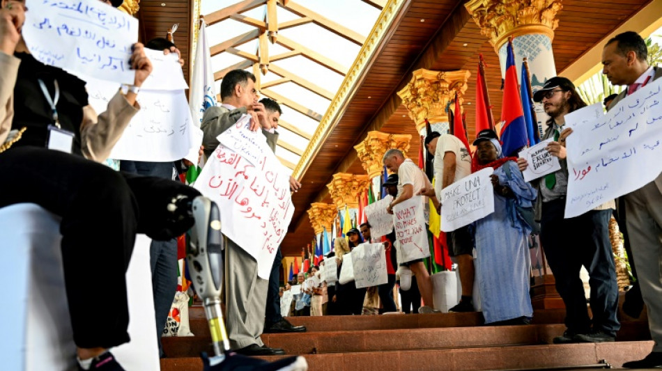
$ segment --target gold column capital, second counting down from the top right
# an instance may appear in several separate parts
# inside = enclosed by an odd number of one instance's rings
[[[433,71],[421,68],[413,72],[410,83],[398,95],[418,132],[425,127],[426,118],[431,123],[448,122],[446,105],[454,99],[455,92],[462,100],[470,76],[468,70]]]

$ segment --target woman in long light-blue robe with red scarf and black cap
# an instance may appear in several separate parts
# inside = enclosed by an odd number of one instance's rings
[[[487,133],[486,133],[487,134]],[[494,133],[479,136],[472,172],[494,168],[494,212],[475,221],[477,279],[486,324],[528,324],[531,228],[515,205],[531,207],[537,192],[524,181],[515,157],[503,157]]]

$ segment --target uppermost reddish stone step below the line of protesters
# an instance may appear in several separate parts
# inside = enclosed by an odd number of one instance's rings
[[[564,322],[564,309],[535,310],[534,324],[560,324]],[[361,315],[287,317],[295,326],[306,326],[307,332],[353,331],[386,329],[429,329],[438,327],[481,326],[481,313],[436,313],[431,315]],[[204,310],[199,306],[189,308],[189,325],[196,336],[209,336]]]

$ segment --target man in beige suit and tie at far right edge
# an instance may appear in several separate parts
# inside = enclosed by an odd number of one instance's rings
[[[619,102],[628,95],[644,88],[651,81],[656,81],[662,77],[661,68],[648,65],[647,53],[646,42],[640,35],[632,31],[617,35],[605,45],[602,57],[603,74],[606,74],[612,84],[627,86],[627,89],[622,91],[608,106],[609,111],[624,108],[626,102],[621,104]],[[640,107],[637,108],[641,109]],[[643,122],[638,123],[638,125],[643,124]],[[659,128],[656,129],[656,132],[659,133]],[[656,143],[659,143],[659,141]],[[642,148],[640,149],[644,152],[651,152],[652,154],[648,156],[652,161],[659,162],[659,154],[645,148],[645,143],[641,144]],[[659,171],[656,172],[659,173]],[[662,175],[652,175],[656,176],[652,182],[648,182],[643,187],[626,194],[624,199],[627,235],[633,252],[632,258],[637,267],[641,294],[648,309],[651,337],[655,344],[652,352],[646,358],[624,363],[623,367],[626,368],[662,366],[662,300],[660,299],[662,297],[662,280],[660,278],[662,273],[660,267]]]

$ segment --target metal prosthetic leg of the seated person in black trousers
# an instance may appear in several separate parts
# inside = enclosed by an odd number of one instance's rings
[[[197,197],[192,203],[195,225],[190,230],[186,257],[188,269],[198,296],[203,299],[205,315],[216,356],[230,350],[230,342],[221,313],[221,289],[223,284],[223,255],[225,237],[221,234],[218,206],[205,197]]]

